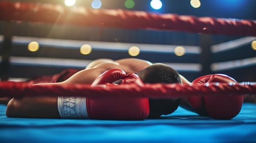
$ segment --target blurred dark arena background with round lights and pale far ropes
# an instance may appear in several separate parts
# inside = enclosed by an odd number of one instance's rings
[[[0,1],[256,20],[256,0]],[[1,79],[30,79],[82,69],[94,59],[134,57],[168,64],[189,81],[213,73],[238,82],[256,81],[255,40],[243,35],[0,21]]]

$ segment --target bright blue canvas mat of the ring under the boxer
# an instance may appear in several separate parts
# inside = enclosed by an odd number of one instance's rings
[[[0,105],[1,143],[256,142],[253,103],[244,103],[231,120],[200,117],[183,108],[144,121],[8,118],[5,110],[6,105]]]

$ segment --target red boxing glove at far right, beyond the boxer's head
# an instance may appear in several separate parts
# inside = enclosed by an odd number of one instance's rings
[[[223,75],[205,75],[195,79],[191,86],[206,83],[228,83],[236,82],[235,79]],[[200,115],[209,115],[213,119],[231,119],[235,117],[241,110],[243,105],[243,96],[190,96],[189,104]]]

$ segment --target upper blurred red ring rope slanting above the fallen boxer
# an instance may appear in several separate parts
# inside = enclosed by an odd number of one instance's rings
[[[68,8],[61,5],[26,2],[0,2],[0,20],[256,36],[256,22],[253,20],[197,18],[121,9]]]

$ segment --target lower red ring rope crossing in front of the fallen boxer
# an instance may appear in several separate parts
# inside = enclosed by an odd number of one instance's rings
[[[26,96],[83,96],[83,97],[187,97],[193,95],[256,95],[256,84],[218,83],[207,85],[180,84],[136,84],[112,86],[110,88],[90,87],[89,84],[32,85],[23,82],[0,82],[0,97]]]

